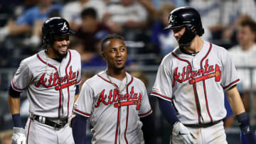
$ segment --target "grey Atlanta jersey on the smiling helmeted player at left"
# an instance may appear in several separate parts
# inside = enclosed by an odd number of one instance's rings
[[[29,111],[50,118],[70,117],[76,85],[81,80],[80,54],[68,50],[61,62],[46,56],[45,50],[21,61],[11,87],[27,90]]]

